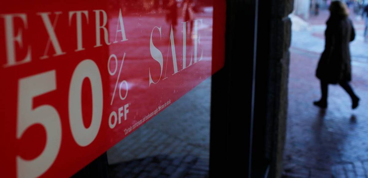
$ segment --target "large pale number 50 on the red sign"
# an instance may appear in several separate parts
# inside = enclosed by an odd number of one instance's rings
[[[85,78],[91,81],[92,122],[85,128],[82,120],[81,89]],[[61,144],[61,122],[56,109],[51,105],[33,108],[33,98],[56,90],[56,71],[51,70],[19,80],[17,139],[32,125],[40,124],[46,130],[46,145],[33,160],[17,156],[18,177],[38,177],[55,161]],[[72,136],[79,146],[93,142],[102,120],[103,93],[100,71],[95,62],[86,59],[74,70],[69,88],[69,119]]]

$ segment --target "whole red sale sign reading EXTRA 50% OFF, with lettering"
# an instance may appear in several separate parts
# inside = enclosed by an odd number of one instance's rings
[[[71,176],[220,69],[224,5],[3,3],[1,177]]]

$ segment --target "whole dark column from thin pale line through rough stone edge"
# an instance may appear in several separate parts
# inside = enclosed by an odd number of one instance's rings
[[[258,18],[252,177],[280,177],[287,118],[293,0],[262,1]]]

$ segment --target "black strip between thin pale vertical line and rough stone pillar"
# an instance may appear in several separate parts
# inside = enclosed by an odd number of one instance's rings
[[[268,120],[268,88],[269,58],[270,58],[270,16],[271,0],[262,1],[258,9],[258,32],[256,53],[256,80],[254,101],[254,123],[252,140],[252,176],[265,177],[271,161],[271,135],[269,126],[272,119]]]

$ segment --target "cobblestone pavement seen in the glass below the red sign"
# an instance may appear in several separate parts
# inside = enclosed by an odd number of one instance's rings
[[[207,177],[210,78],[107,151],[111,177]]]

